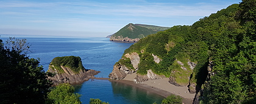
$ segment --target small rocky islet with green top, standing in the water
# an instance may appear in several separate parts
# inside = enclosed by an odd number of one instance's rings
[[[80,57],[56,57],[49,64],[48,72],[54,74],[49,77],[54,85],[60,83],[78,84],[94,78],[99,71],[85,69]]]

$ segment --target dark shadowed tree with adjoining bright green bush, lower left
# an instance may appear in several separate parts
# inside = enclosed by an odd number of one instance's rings
[[[81,103],[80,95],[68,84],[52,86],[51,73],[34,58],[27,57],[29,43],[25,39],[0,40],[0,103]],[[51,92],[50,92],[51,91]]]

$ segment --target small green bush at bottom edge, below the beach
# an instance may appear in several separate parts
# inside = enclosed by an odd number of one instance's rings
[[[162,104],[174,104],[174,103],[182,103],[182,98],[179,95],[169,95],[166,99],[162,100]]]

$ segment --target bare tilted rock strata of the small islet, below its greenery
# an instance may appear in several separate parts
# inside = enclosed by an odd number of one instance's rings
[[[98,74],[99,71],[94,71],[93,69],[81,69],[78,74],[74,73],[70,68],[61,66],[64,73],[60,74],[57,69],[52,69],[54,66],[49,65],[48,72],[52,72],[54,77],[49,77],[54,85],[59,85],[60,83],[78,84],[84,81],[94,78],[94,75]]]

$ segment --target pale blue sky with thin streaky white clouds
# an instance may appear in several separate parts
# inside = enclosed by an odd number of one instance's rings
[[[0,34],[105,37],[129,23],[192,25],[241,0],[0,0]]]

